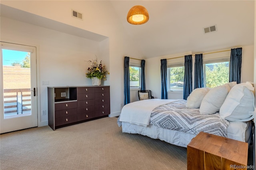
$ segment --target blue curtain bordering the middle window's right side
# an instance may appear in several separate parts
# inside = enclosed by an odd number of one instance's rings
[[[187,99],[192,92],[192,55],[185,55],[183,99]]]

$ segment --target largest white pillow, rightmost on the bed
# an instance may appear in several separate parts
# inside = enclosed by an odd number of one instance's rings
[[[254,94],[254,87],[250,82],[235,85],[220,107],[220,117],[228,121],[252,118],[249,112],[254,111]]]

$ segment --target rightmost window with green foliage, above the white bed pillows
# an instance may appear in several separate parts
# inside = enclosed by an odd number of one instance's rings
[[[229,82],[229,59],[204,62],[204,86],[216,87]]]

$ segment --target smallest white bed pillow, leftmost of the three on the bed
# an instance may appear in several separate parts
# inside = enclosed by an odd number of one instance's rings
[[[206,93],[208,93],[209,90],[210,88],[208,87],[194,89],[187,98],[186,107],[190,109],[199,108],[204,96],[206,95]]]

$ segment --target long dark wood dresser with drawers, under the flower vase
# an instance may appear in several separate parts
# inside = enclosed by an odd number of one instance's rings
[[[110,86],[48,87],[48,125],[56,128],[110,114]]]

